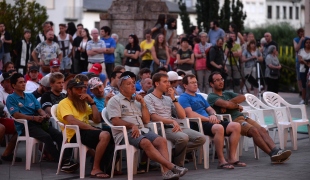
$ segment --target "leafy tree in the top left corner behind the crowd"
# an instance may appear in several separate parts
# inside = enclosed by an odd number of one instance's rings
[[[36,1],[16,0],[14,5],[0,2],[0,22],[12,36],[11,49],[21,40],[24,29],[31,30],[31,42],[35,43],[36,35],[42,31],[42,24],[48,19],[46,8]]]

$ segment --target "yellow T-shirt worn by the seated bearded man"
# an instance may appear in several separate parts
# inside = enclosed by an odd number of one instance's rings
[[[88,116],[92,114],[92,109],[87,105],[86,113],[80,113],[75,109],[72,101],[69,100],[68,98],[65,98],[59,102],[56,114],[57,114],[57,119],[60,122],[64,123],[65,125],[67,125],[68,122],[64,120],[63,118],[67,115],[72,115],[75,119],[78,119],[86,124],[89,124]],[[72,129],[67,130],[68,142],[70,142],[74,134],[75,134],[74,130]]]

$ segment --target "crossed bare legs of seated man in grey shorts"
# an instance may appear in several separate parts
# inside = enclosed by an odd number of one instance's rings
[[[140,147],[145,151],[146,155],[153,161],[160,163],[164,172],[173,169],[174,164],[168,161],[167,141],[162,137],[158,137],[153,141],[153,144],[146,138],[140,141]]]

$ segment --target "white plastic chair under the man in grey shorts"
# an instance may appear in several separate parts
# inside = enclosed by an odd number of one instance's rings
[[[128,180],[133,179],[133,175],[137,174],[137,167],[138,167],[138,149],[134,146],[129,144],[127,129],[125,126],[114,126],[107,117],[106,108],[104,108],[101,112],[101,116],[105,123],[111,127],[113,139],[115,142],[115,149],[114,149],[114,156],[112,162],[112,171],[111,171],[111,178],[114,175],[114,168],[115,168],[115,161],[116,161],[116,153],[119,150],[126,150],[126,157],[127,157],[127,174]],[[121,144],[123,138],[120,137],[120,134],[123,135],[124,144]]]

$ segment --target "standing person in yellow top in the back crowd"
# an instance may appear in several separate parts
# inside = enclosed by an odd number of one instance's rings
[[[143,40],[140,43],[140,57],[142,58],[141,68],[151,68],[151,64],[153,62],[151,49],[154,46],[154,39],[152,39],[151,30],[146,29],[144,30],[144,37],[145,40]]]

